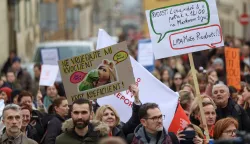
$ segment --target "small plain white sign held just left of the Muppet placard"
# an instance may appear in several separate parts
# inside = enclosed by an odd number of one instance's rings
[[[55,83],[58,71],[58,65],[42,65],[39,85],[52,86]]]

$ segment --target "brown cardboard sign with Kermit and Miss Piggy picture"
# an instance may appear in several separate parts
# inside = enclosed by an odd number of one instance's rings
[[[135,81],[126,42],[58,63],[69,103],[117,93]]]

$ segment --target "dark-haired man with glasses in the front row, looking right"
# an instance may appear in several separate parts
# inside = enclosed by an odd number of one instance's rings
[[[175,134],[167,133],[163,127],[165,115],[162,115],[156,103],[145,103],[139,110],[141,124],[135,129],[134,134],[128,136],[131,144],[178,144]],[[132,140],[131,140],[132,139]],[[131,142],[132,141],[132,142]]]

